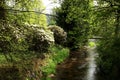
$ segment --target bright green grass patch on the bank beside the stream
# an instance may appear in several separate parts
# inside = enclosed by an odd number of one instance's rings
[[[47,55],[45,64],[41,69],[46,76],[54,74],[56,65],[61,63],[69,55],[69,50],[61,46],[53,46],[50,48],[50,51],[51,52]]]

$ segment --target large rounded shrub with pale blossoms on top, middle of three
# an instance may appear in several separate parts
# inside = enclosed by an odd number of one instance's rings
[[[26,41],[29,44],[29,50],[35,52],[46,52],[54,43],[53,33],[50,30],[42,29],[39,26],[30,26],[29,34],[26,36]]]

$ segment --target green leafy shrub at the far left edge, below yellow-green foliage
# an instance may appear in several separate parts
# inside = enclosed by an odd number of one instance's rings
[[[17,26],[7,21],[0,22],[0,52],[10,53],[17,51],[23,47],[22,42],[23,34]]]

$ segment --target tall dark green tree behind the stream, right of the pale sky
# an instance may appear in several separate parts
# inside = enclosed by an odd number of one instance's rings
[[[56,9],[56,23],[67,32],[67,47],[78,49],[89,35],[89,1],[63,0]]]

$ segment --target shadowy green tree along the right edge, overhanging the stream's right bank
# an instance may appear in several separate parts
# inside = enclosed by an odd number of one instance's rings
[[[117,79],[120,71],[120,1],[118,0],[96,0],[94,6],[93,22],[94,30],[99,30],[99,36],[103,38],[98,46],[99,70],[110,79]]]

